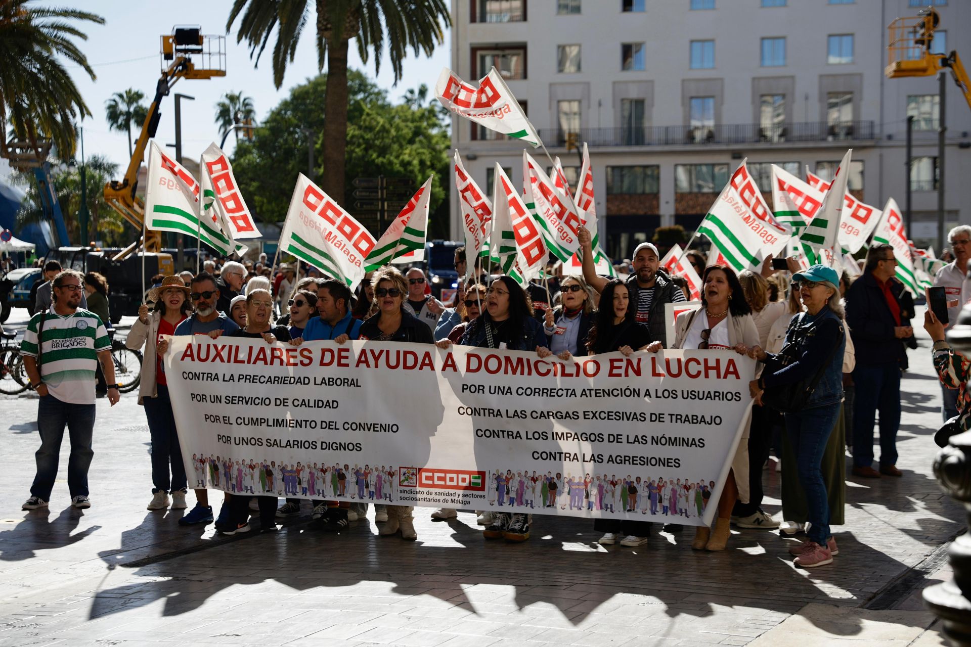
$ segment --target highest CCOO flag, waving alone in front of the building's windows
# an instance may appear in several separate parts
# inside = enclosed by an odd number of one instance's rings
[[[452,113],[464,116],[489,130],[540,146],[540,136],[522,112],[506,81],[493,67],[479,85],[470,85],[452,70],[442,68],[435,96]]]

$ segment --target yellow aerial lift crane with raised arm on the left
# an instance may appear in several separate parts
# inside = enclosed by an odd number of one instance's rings
[[[204,35],[198,25],[176,26],[172,34],[161,37],[162,76],[155,85],[155,97],[151,101],[149,114],[142,124],[142,132],[132,153],[128,169],[121,181],[112,180],[105,184],[105,201],[121,217],[142,229],[145,217],[145,204],[135,196],[138,189],[138,170],[145,156],[149,140],[155,136],[159,108],[162,98],[180,79],[212,79],[226,76],[225,37]],[[194,58],[193,58],[194,57]],[[121,250],[115,260],[121,260],[140,246],[145,251],[157,252],[161,249],[159,232],[148,232],[147,240],[132,243]]]

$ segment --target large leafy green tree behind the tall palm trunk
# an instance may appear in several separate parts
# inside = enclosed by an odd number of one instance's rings
[[[295,86],[289,97],[253,131],[252,141],[241,141],[236,147],[233,172],[247,203],[265,222],[285,218],[297,174],[308,173],[308,143],[313,142],[315,149],[322,146],[321,109],[327,81],[327,76],[320,75]],[[348,182],[342,190],[352,188],[352,178],[380,175],[412,178],[418,188],[434,173],[429,236],[447,236],[449,206],[445,187],[449,181],[451,139],[437,107],[391,105],[384,90],[353,70],[348,75],[348,87]],[[315,177],[322,172],[325,168],[318,164]],[[355,214],[352,205],[346,207]],[[375,236],[381,233],[372,231]]]

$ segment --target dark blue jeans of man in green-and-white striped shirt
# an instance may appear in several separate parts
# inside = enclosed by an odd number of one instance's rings
[[[94,404],[62,403],[49,395],[41,398],[37,405],[37,430],[41,434],[41,448],[34,454],[37,474],[34,476],[34,484],[30,486],[32,497],[50,501],[65,427],[71,438],[71,457],[67,463],[68,490],[72,499],[88,495],[87,469],[94,457],[91,450]]]

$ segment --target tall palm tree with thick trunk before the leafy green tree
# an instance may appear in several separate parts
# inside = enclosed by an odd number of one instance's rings
[[[445,41],[443,26],[450,26],[448,0],[233,0],[226,31],[240,18],[236,41],[246,41],[256,63],[277,31],[273,48],[273,82],[284,82],[287,61],[296,55],[297,43],[310,14],[317,12],[317,63],[327,64],[327,94],[323,109],[323,190],[344,202],[344,155],[348,134],[348,48],[357,40],[357,53],[365,63],[374,52],[375,72],[387,41],[394,82],[401,80],[402,61],[408,49],[431,55]],[[244,11],[245,10],[245,11]]]

